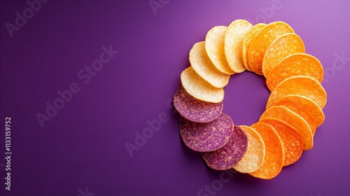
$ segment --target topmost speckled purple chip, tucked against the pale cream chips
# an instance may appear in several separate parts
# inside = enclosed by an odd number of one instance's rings
[[[209,123],[223,111],[223,102],[214,104],[195,99],[182,86],[176,90],[173,102],[183,118],[196,123]]]

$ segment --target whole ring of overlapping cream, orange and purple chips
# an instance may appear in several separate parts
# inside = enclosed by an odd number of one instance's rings
[[[216,26],[189,56],[173,102],[183,143],[209,167],[272,179],[312,148],[325,119],[323,67],[288,24]],[[238,126],[222,112],[223,87],[245,70],[265,76],[271,94],[258,122]]]

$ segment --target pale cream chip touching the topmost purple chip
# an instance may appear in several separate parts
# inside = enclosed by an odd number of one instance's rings
[[[195,72],[192,66],[182,71],[181,83],[186,92],[196,99],[211,103],[223,102],[225,94],[223,88],[210,85]]]

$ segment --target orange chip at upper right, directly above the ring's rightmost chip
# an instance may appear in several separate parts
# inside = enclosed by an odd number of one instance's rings
[[[272,91],[281,81],[292,76],[310,76],[321,83],[323,80],[322,64],[311,55],[302,53],[289,55],[269,72],[266,85]]]

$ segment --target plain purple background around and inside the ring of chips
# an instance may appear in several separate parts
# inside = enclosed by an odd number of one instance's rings
[[[189,66],[192,45],[211,27],[236,19],[288,22],[323,64],[328,103],[314,148],[298,162],[269,181],[235,174],[215,195],[350,195],[350,61],[332,68],[336,54],[350,57],[350,1],[280,0],[273,13],[266,10],[275,0],[162,2],[155,14],[148,0],[52,0],[11,38],[6,22],[14,25],[15,12],[29,6],[1,1],[0,164],[6,116],[13,155],[11,191],[0,167],[0,195],[83,196],[85,188],[94,196],[197,195],[213,182],[218,186],[222,172],[184,146],[179,116],[167,102]],[[119,53],[84,84],[78,71],[99,59],[104,45]],[[45,103],[71,83],[80,92],[41,127],[36,113],[44,114]],[[237,125],[251,125],[268,95],[265,78],[248,71],[234,75],[225,87],[224,112]],[[135,132],[160,113],[169,120],[130,158],[125,144],[134,144]]]

